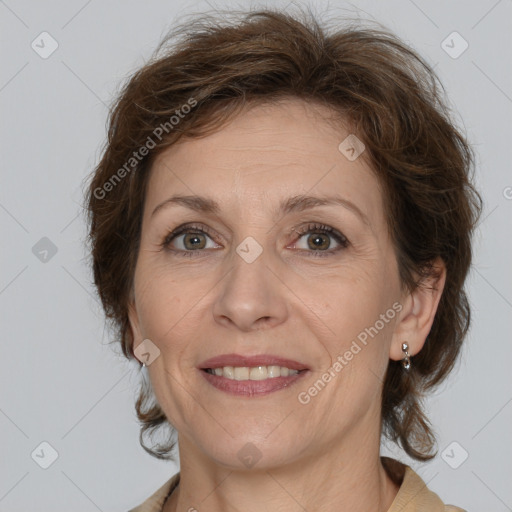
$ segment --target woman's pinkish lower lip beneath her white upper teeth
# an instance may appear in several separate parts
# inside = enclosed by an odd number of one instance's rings
[[[272,377],[264,380],[234,380],[212,375],[200,370],[204,378],[215,388],[230,395],[236,396],[264,396],[280,389],[286,388],[297,382],[308,373],[307,370],[290,375],[289,377]]]

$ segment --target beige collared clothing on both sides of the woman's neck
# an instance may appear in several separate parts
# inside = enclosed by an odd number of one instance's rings
[[[411,467],[389,457],[381,459],[391,478],[400,485],[388,512],[466,512],[459,507],[445,505]],[[178,486],[179,479],[180,474],[176,473],[144,503],[130,512],[162,512],[165,499]]]

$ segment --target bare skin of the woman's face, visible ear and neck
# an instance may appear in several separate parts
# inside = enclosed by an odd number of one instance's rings
[[[217,133],[182,139],[152,167],[129,318],[135,346],[150,339],[160,350],[148,371],[178,432],[181,480],[166,512],[385,512],[398,492],[379,457],[383,379],[389,359],[403,359],[403,341],[411,356],[421,350],[445,269],[436,262],[433,291],[401,289],[379,182],[364,153],[351,162],[338,150],[350,131],[331,117],[327,107],[299,99],[260,104]],[[290,196],[333,193],[367,222],[342,205],[273,213]],[[211,197],[221,211],[172,205],[152,216],[173,194]],[[211,230],[199,234],[204,248],[191,250],[178,236],[170,243],[176,252],[163,249],[188,222]],[[341,232],[349,245],[329,253],[340,244],[324,235],[327,255],[315,257],[318,230],[294,231],[311,222]],[[263,250],[252,263],[236,252],[248,236]],[[187,248],[194,254],[180,256]],[[395,302],[401,311],[300,403],[298,394]],[[310,372],[265,396],[232,396],[197,369],[227,353],[278,355]],[[261,453],[252,468],[238,457],[247,443]]]

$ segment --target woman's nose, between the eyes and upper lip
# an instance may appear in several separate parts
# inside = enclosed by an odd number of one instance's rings
[[[286,320],[286,287],[267,266],[265,251],[252,263],[234,254],[233,265],[219,283],[213,306],[215,321],[244,332],[275,327]]]

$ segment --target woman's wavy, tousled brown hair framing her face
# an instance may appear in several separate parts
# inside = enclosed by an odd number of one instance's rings
[[[420,286],[437,257],[446,264],[423,349],[409,372],[390,360],[382,390],[382,433],[409,456],[429,460],[435,435],[422,399],[452,370],[470,323],[463,285],[482,207],[471,183],[472,150],[431,67],[385,29],[347,24],[329,31],[310,12],[241,14],[236,22],[202,15],[174,30],[111,109],[87,192],[94,282],[107,318],[124,355],[134,357],[127,304],[157,154],[183,135],[222,128],[250,102],[295,97],[327,105],[364,142],[383,185],[403,288]],[[170,458],[172,443],[144,444],[144,434],[168,424],[150,389],[141,390],[136,410],[142,446]]]

